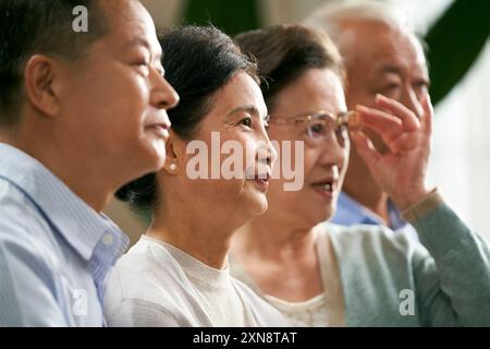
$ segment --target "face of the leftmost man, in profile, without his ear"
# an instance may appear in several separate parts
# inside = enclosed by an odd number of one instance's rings
[[[81,160],[121,185],[163,165],[166,110],[179,96],[162,77],[161,47],[143,5],[101,3],[108,33],[68,64],[59,122]]]

